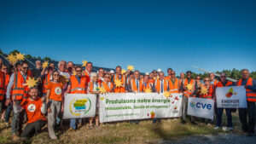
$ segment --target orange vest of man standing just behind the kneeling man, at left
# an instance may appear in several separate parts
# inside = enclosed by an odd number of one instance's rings
[[[29,88],[25,86],[28,77],[31,77],[31,72],[27,72],[26,79],[22,77],[20,72],[15,72],[15,83],[13,85],[12,96],[16,97],[16,100],[22,101],[22,99],[28,98]]]

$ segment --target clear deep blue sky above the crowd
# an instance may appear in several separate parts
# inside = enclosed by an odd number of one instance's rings
[[[0,49],[142,72],[256,71],[256,1],[0,1]]]

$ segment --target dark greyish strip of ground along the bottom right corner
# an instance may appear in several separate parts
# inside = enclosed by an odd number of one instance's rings
[[[159,141],[159,144],[256,144],[256,135],[248,137],[245,134],[192,135],[174,141]]]

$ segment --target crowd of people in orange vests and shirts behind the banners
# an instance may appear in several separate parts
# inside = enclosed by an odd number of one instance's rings
[[[72,61],[61,60],[58,66],[50,63],[47,67],[42,67],[42,61],[37,60],[36,68],[29,69],[27,61],[20,61],[9,66],[3,64],[0,59],[0,112],[4,124],[9,125],[11,112],[11,134],[16,139],[20,137],[31,137],[38,134],[45,124],[48,125],[49,137],[57,139],[55,130],[61,127],[61,115],[64,110],[65,94],[99,94],[98,88],[104,87],[108,93],[144,93],[150,89],[153,93],[183,93],[182,118],[181,123],[187,121],[187,107],[189,97],[202,99],[212,99],[216,101],[215,91],[218,87],[244,85],[247,89],[247,108],[239,108],[239,118],[241,129],[252,136],[255,124],[255,101],[256,101],[256,81],[249,77],[249,71],[241,71],[241,79],[236,83],[226,79],[226,74],[220,74],[217,80],[213,73],[209,77],[192,78],[192,72],[181,72],[179,78],[172,68],[165,72],[153,70],[150,73],[142,74],[139,71],[122,72],[121,66],[116,66],[107,72],[104,68],[99,68],[97,72],[92,72],[93,64],[87,62],[85,69],[82,66],[74,66]],[[26,85],[28,78],[38,80],[37,86],[29,88]],[[119,80],[121,86],[117,87],[115,81]],[[188,87],[191,86],[191,88]],[[202,94],[201,89],[207,89],[207,94]],[[98,109],[98,104],[97,104]],[[234,130],[232,123],[232,112],[236,109],[219,108],[215,105],[216,122],[214,129],[221,129],[223,112],[227,115],[226,130]],[[247,119],[248,118],[248,119]],[[191,124],[197,124],[194,117],[189,117]],[[22,125],[26,121],[26,127],[22,130]],[[95,121],[95,126],[93,122]],[[153,119],[153,123],[160,122],[160,119]],[[139,121],[133,121],[139,124]],[[69,119],[70,130],[77,130],[83,124],[83,119]],[[201,123],[213,124],[212,120],[201,118]],[[104,125],[104,124],[102,124]],[[99,127],[99,113],[96,110],[96,117],[89,118],[90,129]]]

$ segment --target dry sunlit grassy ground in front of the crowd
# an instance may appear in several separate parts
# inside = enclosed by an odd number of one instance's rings
[[[233,113],[233,123],[235,130],[233,133],[241,133],[241,124],[238,119],[238,113]],[[160,140],[177,140],[186,135],[196,134],[218,134],[222,130],[214,130],[212,126],[207,124],[197,125],[190,123],[180,124],[179,119],[164,119],[160,124],[152,124],[152,121],[145,120],[140,124],[129,124],[127,122],[119,124],[108,124],[105,127],[90,130],[88,125],[82,126],[79,130],[68,130],[59,133],[59,140],[50,140],[45,126],[43,132],[33,136],[29,140],[13,141],[10,135],[10,127],[3,123],[0,124],[0,143],[155,143]],[[226,125],[226,117],[224,114],[223,125]]]

